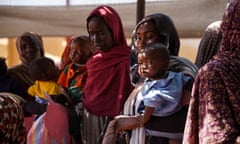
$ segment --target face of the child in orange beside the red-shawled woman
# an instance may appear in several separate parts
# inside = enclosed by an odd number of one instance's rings
[[[72,43],[69,56],[72,62],[77,64],[85,64],[87,62],[90,52],[85,48],[85,45],[83,42],[81,44],[78,42]]]

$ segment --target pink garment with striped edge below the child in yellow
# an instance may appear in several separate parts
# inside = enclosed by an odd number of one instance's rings
[[[52,101],[28,132],[27,144],[71,144],[67,109]]]

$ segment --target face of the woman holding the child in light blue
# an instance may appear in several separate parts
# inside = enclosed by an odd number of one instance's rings
[[[146,44],[153,42],[165,43],[165,37],[160,35],[156,24],[153,21],[142,23],[136,30],[136,48],[138,51],[144,48]]]

